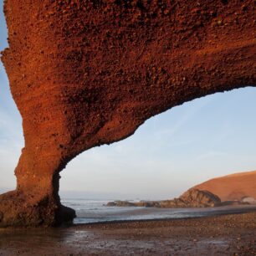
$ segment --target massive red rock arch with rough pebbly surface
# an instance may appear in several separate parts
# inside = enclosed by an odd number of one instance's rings
[[[61,223],[59,172],[74,156],[185,101],[256,84],[253,0],[6,0],[4,12],[25,147],[0,226]]]

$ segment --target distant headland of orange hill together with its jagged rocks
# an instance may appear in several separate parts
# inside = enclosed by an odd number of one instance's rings
[[[115,201],[116,207],[218,207],[225,205],[256,204],[256,171],[239,172],[203,182],[184,192],[180,197],[162,201]]]

